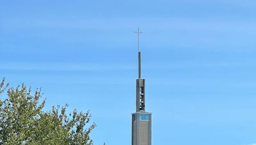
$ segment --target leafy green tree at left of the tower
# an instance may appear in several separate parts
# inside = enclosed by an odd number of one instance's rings
[[[32,95],[23,83],[16,88],[0,84],[0,95],[7,90],[7,99],[0,97],[0,144],[93,144],[90,132],[95,128],[90,111],[67,114],[67,104],[43,111],[40,89]]]

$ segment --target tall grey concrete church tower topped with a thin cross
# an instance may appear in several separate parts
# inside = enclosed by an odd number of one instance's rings
[[[138,34],[140,31],[138,31]],[[138,52],[136,79],[136,113],[132,113],[132,145],[151,145],[152,113],[145,111],[145,79],[141,79],[141,52]]]

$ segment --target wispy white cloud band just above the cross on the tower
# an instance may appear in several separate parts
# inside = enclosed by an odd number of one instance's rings
[[[202,19],[202,18],[90,18],[88,20],[47,20],[47,19],[6,19],[2,22],[1,27],[4,29],[13,27],[22,27],[26,29],[35,28],[54,28],[54,29],[133,29],[138,27],[134,23],[138,21],[143,25],[144,29],[154,27],[155,31],[163,30],[186,30],[186,31],[256,31],[255,21],[252,20],[217,20],[217,19]],[[102,25],[104,24],[104,25]]]

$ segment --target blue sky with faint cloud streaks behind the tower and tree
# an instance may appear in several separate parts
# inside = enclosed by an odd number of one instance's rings
[[[256,142],[256,2],[1,1],[0,78],[92,113],[95,145],[131,144],[140,27],[152,144]]]

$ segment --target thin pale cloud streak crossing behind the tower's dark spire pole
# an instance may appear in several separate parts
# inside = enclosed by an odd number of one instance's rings
[[[166,62],[144,63],[143,69],[175,69],[191,67],[255,67],[250,62]],[[136,64],[118,63],[50,63],[50,62],[1,62],[0,70],[19,71],[115,71],[135,70]],[[256,144],[255,144],[256,145]]]

